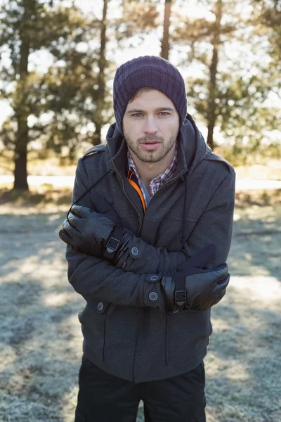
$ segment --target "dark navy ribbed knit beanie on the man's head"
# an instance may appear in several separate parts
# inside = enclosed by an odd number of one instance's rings
[[[123,132],[122,120],[130,98],[143,87],[158,89],[170,98],[178,112],[181,127],[187,113],[185,84],[181,73],[164,58],[143,56],[119,66],[115,74],[113,108],[119,131]]]

